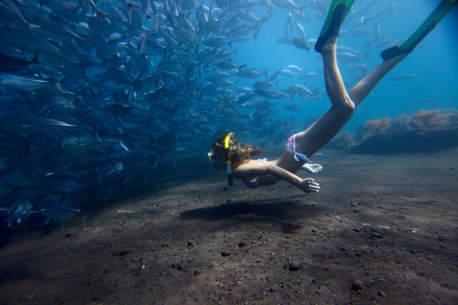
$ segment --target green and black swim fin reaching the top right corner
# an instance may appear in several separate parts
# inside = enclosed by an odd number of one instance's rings
[[[447,15],[457,0],[442,0],[437,8],[421,23],[416,31],[402,44],[383,50],[380,54],[383,60],[391,59],[400,54],[410,53],[437,26],[439,21]]]

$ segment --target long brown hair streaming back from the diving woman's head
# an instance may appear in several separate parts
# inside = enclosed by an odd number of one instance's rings
[[[259,147],[245,143],[239,144],[241,139],[240,137],[237,138],[237,140],[235,141],[232,141],[230,139],[229,146],[226,149],[224,149],[224,140],[230,134],[230,132],[226,133],[225,135],[219,137],[218,140],[216,140],[213,143],[211,149],[215,154],[224,154],[224,158],[226,160],[241,162],[251,159],[251,157],[253,156],[261,155],[262,153],[264,153],[264,150],[260,149]]]

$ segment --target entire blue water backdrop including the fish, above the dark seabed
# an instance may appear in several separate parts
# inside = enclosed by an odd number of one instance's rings
[[[346,87],[439,3],[356,0],[338,39]],[[191,157],[205,162],[224,131],[263,148],[284,145],[330,108],[313,50],[329,1],[0,5],[5,230],[31,215],[64,228],[88,205],[144,185],[159,168],[173,171]],[[361,136],[361,127],[369,125],[386,132],[393,122],[408,121],[411,130],[421,121],[435,132],[456,130],[457,11],[377,85],[342,132],[359,133],[352,137],[362,143],[371,135]],[[445,141],[454,145],[455,134]]]

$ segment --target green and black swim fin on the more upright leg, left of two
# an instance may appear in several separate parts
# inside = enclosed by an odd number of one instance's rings
[[[328,14],[326,15],[325,23],[315,44],[315,51],[321,53],[324,44],[332,36],[338,36],[340,26],[347,17],[348,12],[352,8],[355,0],[332,0],[329,6]]]

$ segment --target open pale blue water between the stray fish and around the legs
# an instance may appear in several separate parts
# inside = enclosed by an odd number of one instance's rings
[[[298,5],[306,2],[297,2]],[[355,9],[360,9],[369,1],[356,1]],[[375,20],[379,21],[382,35],[391,37],[394,40],[403,40],[410,36],[421,22],[434,10],[440,1],[399,1],[395,2],[396,10],[392,13],[384,13],[380,18],[364,23],[363,28],[373,32]],[[365,14],[357,14],[351,20],[346,20],[341,31],[351,30],[355,23],[364,16],[378,15],[386,11],[389,3],[376,1]],[[420,49],[416,49],[404,61],[393,69],[364,100],[356,114],[342,131],[357,131],[367,120],[379,119],[382,117],[394,118],[399,115],[412,114],[421,109],[447,109],[458,105],[458,41],[456,38],[458,28],[458,10],[454,8],[439,25],[421,43]],[[262,10],[265,12],[265,9]],[[262,15],[260,10],[259,15]],[[301,22],[305,27],[306,40],[317,39],[323,25],[323,20],[313,15],[313,8],[308,5],[304,12],[310,16],[307,23]],[[237,63],[247,64],[250,68],[263,71],[276,71],[278,68],[287,65],[297,65],[307,72],[321,72],[323,62],[320,54],[309,50],[301,50],[292,45],[283,45],[277,42],[279,37],[284,36],[284,26],[287,22],[288,11],[277,9],[272,12],[272,18],[263,27],[256,40],[234,44],[238,52],[233,57]],[[298,36],[297,32],[292,36]],[[369,63],[369,70],[374,69],[382,62],[380,52],[375,46],[366,47],[365,42],[371,37],[354,37],[351,33],[340,35],[339,46],[351,47],[354,51],[364,54],[364,57],[356,62]],[[310,47],[313,47],[310,44]],[[337,58],[339,59],[339,58]],[[346,69],[351,65],[339,65],[344,79],[355,84],[354,76],[357,73],[349,72]],[[413,78],[404,81],[390,80],[390,76],[412,73],[421,75],[421,78]],[[359,79],[358,79],[359,80]],[[280,78],[279,88],[288,87],[291,83],[301,83],[301,80]],[[313,82],[313,87],[324,88],[324,78],[318,76]],[[347,87],[349,90],[350,88]],[[291,101],[288,101],[288,103]],[[296,98],[295,102],[305,103],[306,106],[300,113],[295,114],[295,119],[300,123],[302,117],[317,116],[324,113],[330,107],[329,99],[326,97],[319,101],[307,102]],[[283,111],[284,116],[290,112]]]

